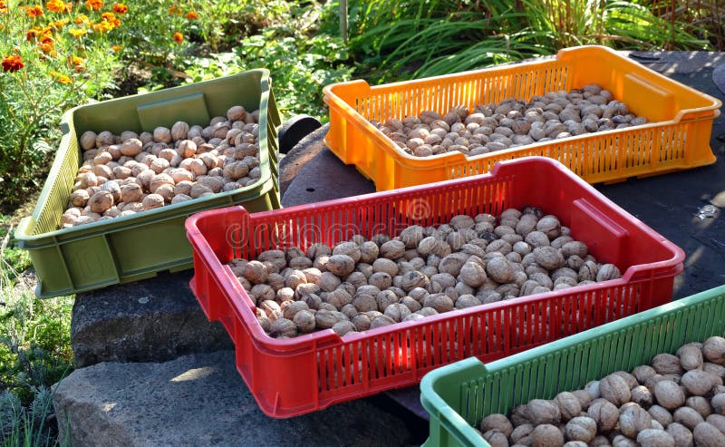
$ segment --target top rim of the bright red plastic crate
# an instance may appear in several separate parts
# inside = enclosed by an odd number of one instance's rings
[[[381,198],[391,195],[400,195],[401,193],[408,193],[408,192],[414,192],[420,190],[421,186],[424,186],[426,188],[437,188],[443,185],[449,185],[454,183],[465,183],[465,182],[475,182],[478,180],[481,180],[483,178],[488,177],[494,177],[498,174],[498,170],[500,170],[501,165],[508,165],[508,164],[524,164],[524,163],[547,163],[552,165],[552,167],[555,167],[558,170],[561,170],[562,175],[565,175],[569,177],[571,180],[579,183],[582,188],[589,189],[590,192],[596,193],[597,197],[599,199],[602,199],[604,201],[604,204],[612,207],[614,209],[619,209],[626,213],[622,207],[618,206],[614,201],[611,199],[608,199],[604,197],[604,195],[601,195],[594,187],[588,183],[585,182],[585,180],[582,180],[580,177],[576,176],[571,170],[568,170],[565,168],[565,166],[559,162],[558,160],[549,159],[546,157],[527,157],[526,159],[517,159],[517,160],[506,160],[497,162],[494,166],[493,170],[490,172],[487,172],[485,174],[478,174],[476,176],[469,176],[465,178],[459,178],[459,179],[453,179],[453,180],[442,180],[438,182],[432,182],[427,183],[425,185],[419,185],[419,186],[412,186],[412,187],[406,187],[401,189],[390,189],[380,192],[372,192],[360,196],[354,196],[353,198],[342,198],[342,199],[331,199],[331,200],[325,200],[322,202],[315,202],[312,204],[307,205],[297,205],[295,207],[285,208],[285,209],[275,209],[275,210],[268,210],[268,211],[260,211],[256,213],[249,213],[250,216],[256,216],[258,218],[266,218],[266,217],[272,217],[272,216],[280,216],[280,215],[286,215],[286,214],[294,214],[296,212],[306,210],[309,212],[311,209],[320,209],[323,207],[330,207],[334,206],[336,204],[349,204],[350,200],[353,199],[354,201],[362,201],[364,199],[371,199],[371,198]],[[601,197],[599,197],[601,195]],[[232,211],[233,210],[233,211]],[[208,250],[211,250],[208,246],[208,242],[206,238],[204,238],[201,235],[201,231],[198,229],[198,220],[200,219],[207,219],[208,217],[214,217],[215,215],[226,215],[230,212],[247,212],[246,209],[244,209],[243,206],[237,205],[234,207],[227,207],[222,209],[209,209],[206,211],[198,212],[192,216],[189,217],[189,219],[186,220],[186,230],[187,230],[187,237],[191,241],[192,246],[195,248],[195,250],[199,246],[203,246],[207,248]],[[629,214],[629,213],[627,213]],[[650,270],[650,269],[656,269],[659,267],[673,267],[676,270],[676,273],[674,273],[673,276],[678,275],[681,273],[683,266],[682,262],[685,258],[684,251],[673,244],[670,240],[667,238],[664,238],[659,232],[655,231],[654,229],[650,228],[649,226],[646,226],[641,220],[635,218],[634,216],[631,216],[632,219],[635,219],[637,222],[641,223],[645,228],[648,228],[649,231],[651,231],[652,237],[657,239],[657,242],[659,244],[662,244],[663,247],[669,249],[672,253],[672,258],[662,260],[662,261],[656,261],[649,264],[643,264],[638,266],[630,266],[626,269],[625,272],[623,272],[622,277],[618,279],[612,279],[608,281],[599,282],[592,285],[585,285],[585,286],[576,286],[576,287],[570,287],[562,290],[554,290],[551,292],[546,292],[542,294],[536,294],[534,296],[519,296],[516,299],[513,300],[507,300],[507,301],[498,301],[496,303],[491,303],[489,305],[481,305],[481,306],[474,306],[464,309],[454,309],[450,312],[446,312],[444,314],[439,314],[435,316],[428,316],[425,318],[425,321],[421,322],[418,320],[408,321],[408,322],[400,322],[396,323],[395,325],[389,325],[389,326],[382,326],[375,329],[369,329],[367,331],[362,332],[355,332],[350,335],[337,335],[332,329],[325,329],[323,331],[317,331],[311,334],[307,335],[299,335],[295,336],[294,338],[289,339],[276,339],[269,335],[266,335],[264,330],[262,329],[262,326],[258,324],[256,321],[256,317],[254,316],[254,312],[252,311],[252,307],[249,305],[251,304],[249,302],[249,299],[247,297],[247,294],[243,292],[243,287],[238,283],[237,279],[234,277],[234,275],[231,273],[231,269],[227,267],[226,265],[221,264],[221,262],[218,260],[217,257],[213,257],[211,259],[212,264],[209,264],[207,257],[199,257],[200,261],[205,264],[205,266],[210,271],[217,271],[220,274],[217,276],[217,279],[223,283],[224,287],[227,290],[233,290],[236,295],[230,296],[230,304],[233,307],[233,312],[237,317],[240,317],[241,319],[245,320],[247,322],[247,325],[250,329],[250,334],[252,334],[252,342],[262,349],[265,349],[267,351],[270,351],[270,348],[276,349],[279,353],[283,352],[289,352],[293,351],[295,349],[299,348],[299,345],[303,344],[309,344],[309,342],[314,342],[313,345],[307,346],[305,349],[310,348],[312,346],[313,349],[316,349],[317,347],[327,346],[328,344],[332,345],[343,345],[346,343],[353,343],[357,341],[358,339],[368,339],[373,336],[378,335],[387,335],[391,333],[397,333],[401,331],[401,329],[406,329],[409,327],[414,326],[420,326],[420,325],[427,325],[430,322],[437,322],[437,321],[447,321],[449,319],[454,319],[459,316],[466,316],[469,314],[477,314],[482,307],[486,306],[496,306],[498,308],[507,308],[510,306],[522,306],[527,303],[531,302],[537,302],[540,301],[542,297],[550,297],[550,296],[564,296],[569,295],[572,293],[572,290],[575,289],[578,293],[587,293],[595,289],[602,288],[602,285],[608,286],[608,287],[619,287],[622,285],[625,285],[629,282],[629,280],[638,272],[641,270]],[[192,279],[193,283],[193,279]],[[192,287],[193,290],[193,287]],[[252,306],[254,306],[252,304]],[[256,306],[255,306],[256,307]]]

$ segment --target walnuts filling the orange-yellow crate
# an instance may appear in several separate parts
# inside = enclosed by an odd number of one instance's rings
[[[469,114],[458,105],[444,116],[424,111],[402,121],[371,121],[403,151],[430,157],[459,151],[469,156],[503,151],[535,142],[623,129],[647,122],[597,84],[570,92],[536,95],[531,101],[507,99],[478,105]]]

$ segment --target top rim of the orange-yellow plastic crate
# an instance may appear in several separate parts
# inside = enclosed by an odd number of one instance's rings
[[[358,80],[353,80],[350,82],[332,83],[329,85],[325,85],[323,88],[324,102],[327,103],[328,105],[334,105],[335,107],[339,107],[340,109],[343,109],[343,111],[348,112],[350,114],[351,118],[353,118],[353,121],[351,123],[354,126],[357,126],[357,127],[362,126],[363,129],[365,129],[367,131],[371,131],[372,132],[371,137],[373,137],[377,141],[383,141],[385,143],[382,146],[383,151],[388,152],[388,153],[394,153],[396,156],[401,157],[401,160],[411,162],[412,164],[401,163],[401,164],[404,164],[405,169],[428,170],[429,167],[426,165],[433,164],[435,166],[440,166],[439,163],[441,161],[447,162],[444,165],[444,167],[447,167],[449,164],[458,165],[462,160],[476,161],[476,160],[484,159],[487,156],[489,156],[491,152],[474,155],[474,156],[469,156],[469,155],[466,155],[466,154],[463,154],[463,153],[460,153],[457,151],[456,152],[451,151],[451,152],[445,152],[445,153],[441,153],[441,154],[437,154],[437,155],[431,155],[429,157],[416,157],[405,151],[402,151],[401,148],[398,147],[398,145],[395,144],[388,136],[383,134],[382,131],[378,130],[375,126],[372,125],[372,123],[370,121],[367,121],[364,117],[362,117],[362,115],[359,112],[357,112],[355,109],[353,109],[353,107],[350,104],[343,101],[336,93],[334,93],[333,89],[338,88],[343,85],[359,83],[359,84],[367,85],[370,88],[371,92],[374,93],[378,90],[394,88],[394,87],[398,87],[401,85],[410,85],[411,83],[427,83],[427,82],[431,82],[431,81],[447,81],[450,79],[458,78],[460,76],[466,76],[466,75],[478,74],[478,73],[489,73],[489,72],[501,73],[501,72],[517,71],[522,66],[537,65],[539,63],[551,60],[550,58],[552,58],[552,57],[555,58],[554,60],[558,60],[562,55],[564,55],[566,53],[575,53],[577,51],[581,51],[581,49],[593,49],[596,51],[604,51],[604,52],[610,53],[616,57],[622,58],[623,60],[626,60],[628,63],[633,63],[633,64],[636,63],[635,61],[631,61],[629,58],[627,58],[627,57],[623,56],[622,54],[617,53],[613,49],[603,46],[603,45],[580,45],[580,46],[575,46],[575,47],[562,48],[556,53],[556,55],[538,57],[534,61],[525,61],[525,62],[512,63],[512,64],[506,64],[506,65],[493,65],[493,66],[478,69],[478,70],[468,70],[468,71],[459,72],[459,73],[440,74],[437,76],[412,79],[410,81],[398,81],[395,83],[370,85],[365,80],[358,79]],[[713,119],[717,119],[720,116],[720,107],[722,106],[722,102],[718,98],[715,98],[714,96],[711,96],[707,93],[699,92],[684,83],[679,83],[677,81],[674,81],[671,78],[668,78],[667,76],[664,76],[661,73],[657,73],[654,70],[652,70],[651,68],[644,66],[643,64],[637,63],[637,65],[638,65],[638,68],[641,67],[641,69],[643,69],[644,71],[651,73],[653,76],[659,78],[660,81],[662,81],[664,83],[677,84],[677,85],[681,86],[682,88],[688,90],[691,94],[695,94],[695,95],[700,96],[701,98],[704,98],[711,102],[711,104],[709,106],[698,108],[697,109],[698,112],[712,111]],[[695,109],[682,109],[681,111],[679,111],[677,113],[677,115],[675,115],[675,117],[672,120],[669,120],[669,121],[647,122],[645,124],[640,124],[638,126],[632,126],[632,127],[625,128],[625,129],[612,129],[609,131],[601,131],[601,132],[594,132],[594,133],[583,134],[583,135],[575,135],[575,136],[567,137],[566,141],[575,142],[575,141],[579,141],[579,140],[592,138],[593,135],[594,136],[605,136],[610,133],[626,135],[627,133],[630,133],[630,132],[639,132],[639,131],[642,131],[645,129],[652,129],[652,128],[657,128],[657,127],[662,127],[665,125],[672,125],[672,124],[681,123],[681,122],[693,121],[693,120],[682,120],[682,116],[685,115],[686,113],[693,112],[694,110]],[[524,146],[517,146],[514,148],[507,148],[503,151],[496,151],[494,153],[504,155],[504,154],[511,153],[514,151],[520,151],[522,148],[536,149],[539,146],[546,146],[549,143],[550,143],[550,141],[542,141],[542,142],[536,141],[531,144],[527,144]]]

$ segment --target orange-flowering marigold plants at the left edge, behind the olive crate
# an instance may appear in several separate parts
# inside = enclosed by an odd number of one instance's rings
[[[0,6],[0,59],[16,62],[4,64],[0,72],[0,203],[5,210],[39,186],[39,167],[60,137],[61,114],[106,88],[115,66],[109,35],[115,24],[102,19],[101,10],[82,4],[51,10],[48,5],[44,10],[36,6],[43,12],[37,16],[24,4]],[[75,24],[81,14],[96,28]]]

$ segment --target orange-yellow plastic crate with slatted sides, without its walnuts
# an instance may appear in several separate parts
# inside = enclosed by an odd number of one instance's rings
[[[646,116],[648,124],[545,141],[473,157],[448,152],[414,157],[369,121],[402,119],[464,104],[569,91],[598,83]],[[566,48],[556,58],[371,87],[357,80],[324,87],[330,107],[325,142],[344,163],[354,164],[378,190],[488,172],[501,160],[539,155],[561,161],[589,183],[651,176],[715,162],[712,122],[721,102],[645,68],[603,46]]]

